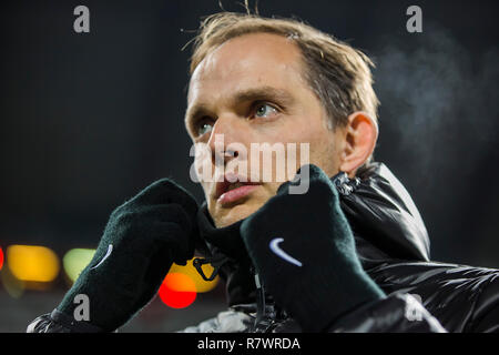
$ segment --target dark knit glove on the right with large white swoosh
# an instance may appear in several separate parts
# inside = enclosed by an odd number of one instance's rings
[[[307,193],[289,194],[292,184],[305,181],[282,184],[243,222],[241,235],[275,303],[303,331],[322,332],[384,293],[360,265],[335,185],[319,168],[308,168]]]

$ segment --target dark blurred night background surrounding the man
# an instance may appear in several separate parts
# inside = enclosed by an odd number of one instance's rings
[[[90,33],[73,9],[90,9]],[[235,1],[226,10],[242,11]],[[422,9],[408,33],[406,9]],[[499,267],[497,1],[263,1],[364,50],[381,101],[376,159],[411,193],[435,261]],[[111,211],[170,176],[190,181],[183,113],[190,48],[217,1],[2,1],[0,246],[62,256],[95,247]],[[181,31],[183,29],[183,31]],[[23,332],[67,285],[12,298],[0,332]],[[154,301],[126,329],[170,331],[224,307],[223,286],[172,311]]]

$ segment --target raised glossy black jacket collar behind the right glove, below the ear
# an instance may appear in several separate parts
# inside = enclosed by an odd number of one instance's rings
[[[383,163],[366,165],[357,178],[360,183],[354,192],[340,193],[340,204],[361,261],[428,261],[428,232],[400,181]]]

